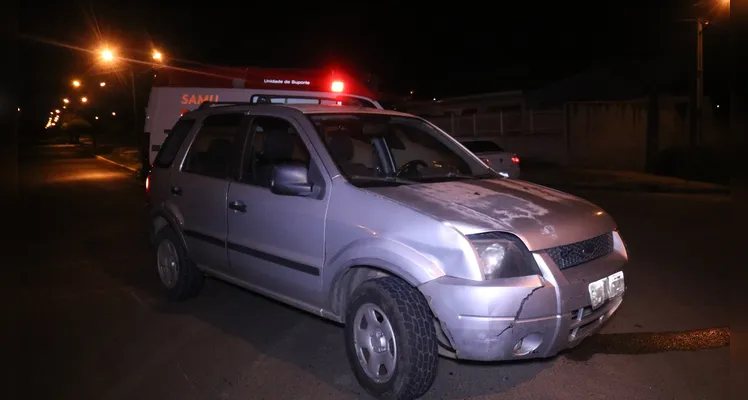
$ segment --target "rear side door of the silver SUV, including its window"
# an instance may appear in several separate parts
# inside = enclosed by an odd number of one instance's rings
[[[227,265],[226,194],[243,119],[242,113],[205,117],[168,187],[191,259],[218,271]]]

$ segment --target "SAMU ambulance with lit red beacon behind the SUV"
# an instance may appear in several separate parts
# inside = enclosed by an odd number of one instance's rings
[[[148,163],[180,116],[203,102],[330,104],[381,109],[373,93],[334,70],[170,68],[156,73],[146,107]]]

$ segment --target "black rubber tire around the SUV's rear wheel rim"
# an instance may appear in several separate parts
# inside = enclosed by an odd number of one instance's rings
[[[176,281],[173,286],[169,287],[161,278],[159,272],[159,246],[165,243],[170,243],[176,250],[176,259],[178,262],[178,270],[176,273]],[[197,296],[200,290],[203,288],[205,282],[205,274],[200,271],[195,263],[190,260],[187,256],[187,251],[182,245],[182,241],[179,236],[170,228],[164,227],[156,234],[154,241],[154,254],[156,258],[156,273],[161,280],[162,287],[166,291],[166,296],[169,300],[181,301],[191,297]]]

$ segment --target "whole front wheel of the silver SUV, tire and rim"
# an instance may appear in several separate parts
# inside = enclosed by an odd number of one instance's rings
[[[414,399],[431,388],[438,345],[418,289],[395,277],[366,281],[353,292],[345,322],[348,362],[367,392]]]

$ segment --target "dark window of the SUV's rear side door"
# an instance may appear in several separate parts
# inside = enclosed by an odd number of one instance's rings
[[[243,114],[206,117],[187,153],[182,171],[226,178],[235,156],[234,139]]]

